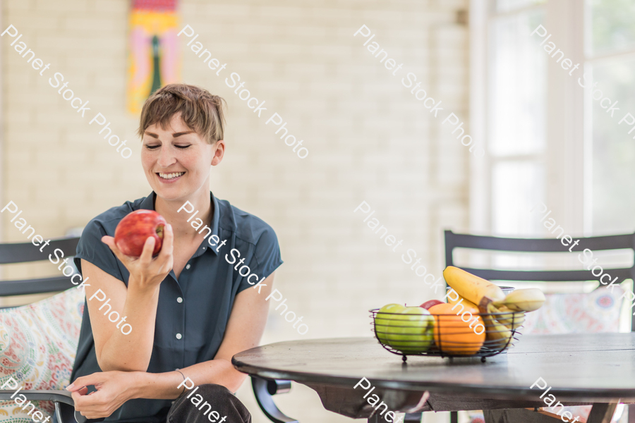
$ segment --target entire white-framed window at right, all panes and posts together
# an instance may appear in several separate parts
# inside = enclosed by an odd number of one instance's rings
[[[635,123],[619,124],[635,116],[635,4],[473,1],[471,15],[471,132],[487,145],[471,159],[472,231],[548,236],[528,213],[538,202],[570,233],[635,231]],[[530,36],[538,25],[580,63],[573,75]]]

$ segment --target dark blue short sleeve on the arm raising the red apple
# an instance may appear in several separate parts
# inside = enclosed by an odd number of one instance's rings
[[[74,259],[75,266],[77,266],[81,273],[81,259],[85,259],[87,262],[95,264],[95,266],[107,274],[114,276],[120,281],[124,281],[119,265],[117,264],[117,257],[111,252],[108,245],[102,243],[102,237],[104,235],[109,234],[106,233],[104,226],[102,226],[102,223],[99,221],[93,219],[86,225],[77,245],[77,254]]]

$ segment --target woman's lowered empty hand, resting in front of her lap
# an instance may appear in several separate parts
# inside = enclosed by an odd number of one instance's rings
[[[139,372],[99,372],[82,376],[66,387],[75,402],[75,410],[88,419],[108,417],[127,400],[135,397]],[[97,391],[87,394],[87,386]]]

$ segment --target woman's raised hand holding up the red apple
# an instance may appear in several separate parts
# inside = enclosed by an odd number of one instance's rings
[[[155,249],[155,238],[148,237],[143,245],[141,257],[130,257],[124,255],[116,246],[114,238],[111,236],[102,237],[102,243],[108,245],[110,250],[121,260],[126,269],[130,272],[128,288],[136,286],[142,290],[158,288],[159,284],[170,273],[174,265],[172,255],[174,248],[174,232],[171,225],[165,226],[163,245],[159,255],[152,258],[152,251]]]

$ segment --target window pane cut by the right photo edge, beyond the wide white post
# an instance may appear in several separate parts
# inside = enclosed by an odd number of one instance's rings
[[[635,4],[624,0],[587,0],[586,67],[593,91],[585,102],[591,124],[593,233],[635,230],[635,140],[633,125],[619,121],[635,116]],[[610,99],[619,111],[606,113],[595,98]],[[594,97],[595,95],[595,97]]]

